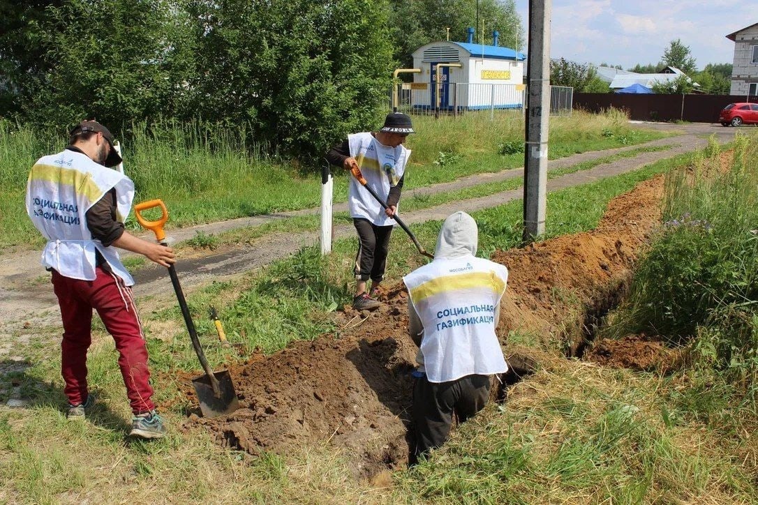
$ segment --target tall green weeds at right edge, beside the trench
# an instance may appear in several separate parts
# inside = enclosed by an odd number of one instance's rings
[[[718,368],[758,373],[758,144],[738,136],[725,164],[711,140],[669,173],[664,223],[609,332],[695,338]]]

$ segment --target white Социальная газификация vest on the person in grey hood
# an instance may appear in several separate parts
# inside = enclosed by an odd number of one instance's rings
[[[506,267],[471,255],[436,258],[402,280],[424,326],[421,354],[429,382],[506,372],[495,334]]]

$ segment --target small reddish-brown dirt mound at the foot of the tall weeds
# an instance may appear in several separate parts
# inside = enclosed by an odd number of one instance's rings
[[[659,337],[641,334],[626,335],[619,340],[601,338],[584,354],[584,359],[613,368],[667,373],[678,367],[682,355],[666,348]]]

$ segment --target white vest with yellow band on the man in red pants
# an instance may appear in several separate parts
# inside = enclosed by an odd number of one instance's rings
[[[86,211],[111,189],[116,189],[117,220],[129,215],[134,183],[124,174],[103,167],[86,154],[65,150],[39,158],[27,181],[27,214],[48,239],[42,266],[62,276],[91,281],[96,277],[96,253],[126,285],[134,279],[121,263],[116,248],[92,238]]]

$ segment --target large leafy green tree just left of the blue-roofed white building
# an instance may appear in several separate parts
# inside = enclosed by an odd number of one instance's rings
[[[385,0],[207,0],[196,17],[196,114],[316,159],[383,117],[392,76]]]

